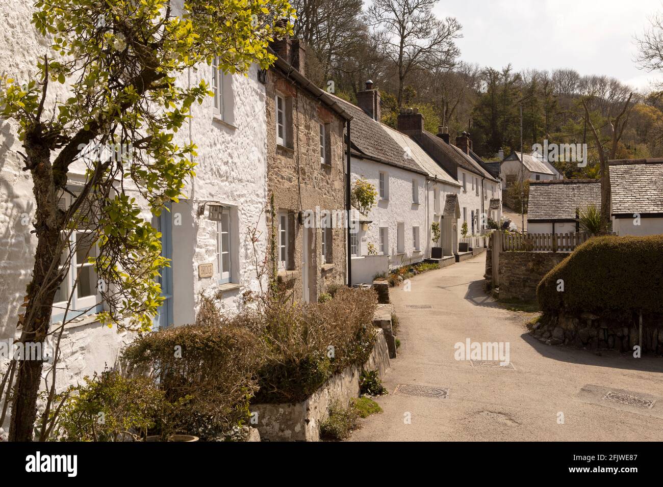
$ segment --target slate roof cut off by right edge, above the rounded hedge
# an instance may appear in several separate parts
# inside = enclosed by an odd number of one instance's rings
[[[613,215],[663,213],[663,159],[611,160]]]

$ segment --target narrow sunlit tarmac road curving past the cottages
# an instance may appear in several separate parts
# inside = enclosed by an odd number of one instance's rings
[[[416,276],[410,292],[391,288],[400,354],[383,378],[389,395],[377,398],[384,412],[351,441],[663,440],[662,357],[544,345],[527,333],[530,315],[483,292],[484,268],[482,254]],[[509,343],[513,368],[456,360],[467,339]]]

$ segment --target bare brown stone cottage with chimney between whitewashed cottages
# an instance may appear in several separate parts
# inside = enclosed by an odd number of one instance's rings
[[[278,280],[295,301],[317,301],[347,279],[348,218],[343,130],[351,115],[306,78],[306,47],[272,44],[266,76],[268,244]]]

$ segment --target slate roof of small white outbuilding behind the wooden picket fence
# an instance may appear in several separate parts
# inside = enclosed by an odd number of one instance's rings
[[[574,220],[575,210],[601,207],[599,180],[530,181],[527,220]]]

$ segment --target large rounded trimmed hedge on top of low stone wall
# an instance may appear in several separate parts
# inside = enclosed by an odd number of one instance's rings
[[[544,312],[663,313],[663,235],[589,239],[544,276],[536,295]]]

